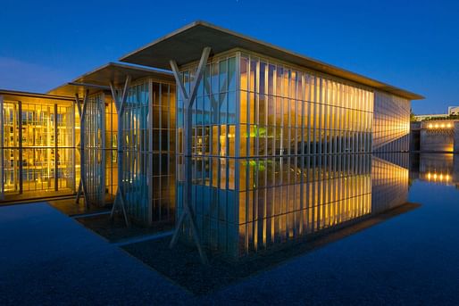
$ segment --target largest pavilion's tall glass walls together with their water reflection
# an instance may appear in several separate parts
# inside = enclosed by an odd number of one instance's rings
[[[189,91],[196,64],[181,70]],[[204,245],[238,256],[369,213],[372,105],[367,88],[255,54],[214,56],[193,116],[193,197]],[[180,98],[178,108],[181,209]],[[338,186],[343,193],[331,196]]]

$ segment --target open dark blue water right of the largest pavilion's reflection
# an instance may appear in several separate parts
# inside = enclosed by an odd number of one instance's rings
[[[459,304],[459,155],[411,155],[407,195],[420,206],[218,297],[247,294],[251,301],[283,304]]]

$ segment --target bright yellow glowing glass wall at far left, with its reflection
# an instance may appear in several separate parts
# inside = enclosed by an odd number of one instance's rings
[[[4,194],[74,191],[73,103],[5,99],[1,111]]]

